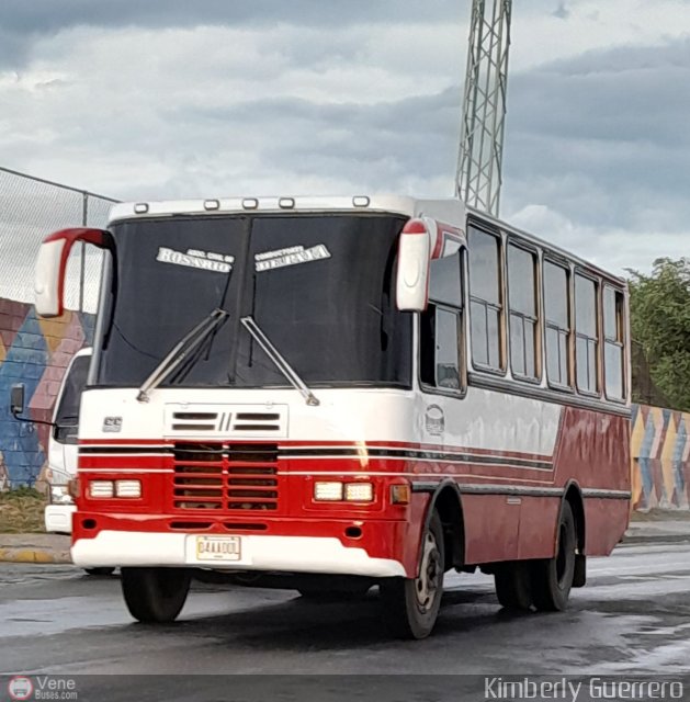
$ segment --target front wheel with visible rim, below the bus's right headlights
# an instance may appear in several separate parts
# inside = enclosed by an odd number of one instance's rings
[[[443,528],[436,511],[422,535],[420,550],[416,578],[387,578],[380,585],[384,625],[400,638],[426,638],[439,615],[445,552]]]

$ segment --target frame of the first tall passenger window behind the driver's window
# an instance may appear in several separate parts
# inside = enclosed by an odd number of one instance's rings
[[[476,231],[478,231],[479,234],[483,234],[485,236],[488,237],[493,237],[497,244],[498,244],[498,297],[499,297],[499,302],[498,305],[484,299],[482,297],[475,297],[472,294],[472,271],[471,271],[471,265],[470,265],[470,251],[471,251],[471,245],[470,245],[470,238],[471,238],[471,229],[475,229]],[[467,249],[465,252],[465,258],[467,261],[466,264],[466,278],[467,278],[467,283],[466,283],[466,303],[465,303],[465,310],[466,310],[466,317],[467,317],[467,348],[468,348],[468,352],[470,352],[470,359],[471,359],[471,363],[472,363],[472,370],[473,371],[479,371],[482,373],[489,373],[491,375],[498,376],[498,377],[506,377],[508,375],[508,352],[507,352],[507,325],[506,325],[506,298],[507,298],[507,291],[506,291],[506,239],[507,236],[505,233],[496,229],[493,230],[490,227],[488,227],[485,223],[482,222],[477,222],[476,219],[472,219],[467,222]],[[474,302],[477,302],[478,304],[482,304],[484,310],[485,310],[485,319],[486,319],[486,310],[487,309],[495,309],[498,312],[498,354],[499,354],[499,365],[500,367],[494,367],[491,365],[488,365],[486,363],[482,363],[480,361],[476,361],[474,358],[474,348],[473,348],[473,333],[472,333],[472,305]],[[488,344],[488,325],[487,325],[487,336],[486,336],[486,340],[487,340],[487,344]],[[488,349],[488,346],[487,346]]]

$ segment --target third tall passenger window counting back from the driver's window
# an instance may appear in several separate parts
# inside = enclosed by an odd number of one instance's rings
[[[550,385],[572,387],[569,271],[544,261],[544,317],[546,322],[546,380]]]

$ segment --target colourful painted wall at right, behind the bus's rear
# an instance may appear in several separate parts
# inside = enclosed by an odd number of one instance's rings
[[[633,405],[633,509],[689,509],[690,414]]]

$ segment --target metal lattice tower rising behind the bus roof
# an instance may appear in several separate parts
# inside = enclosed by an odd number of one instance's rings
[[[498,216],[512,0],[473,0],[457,194]]]

